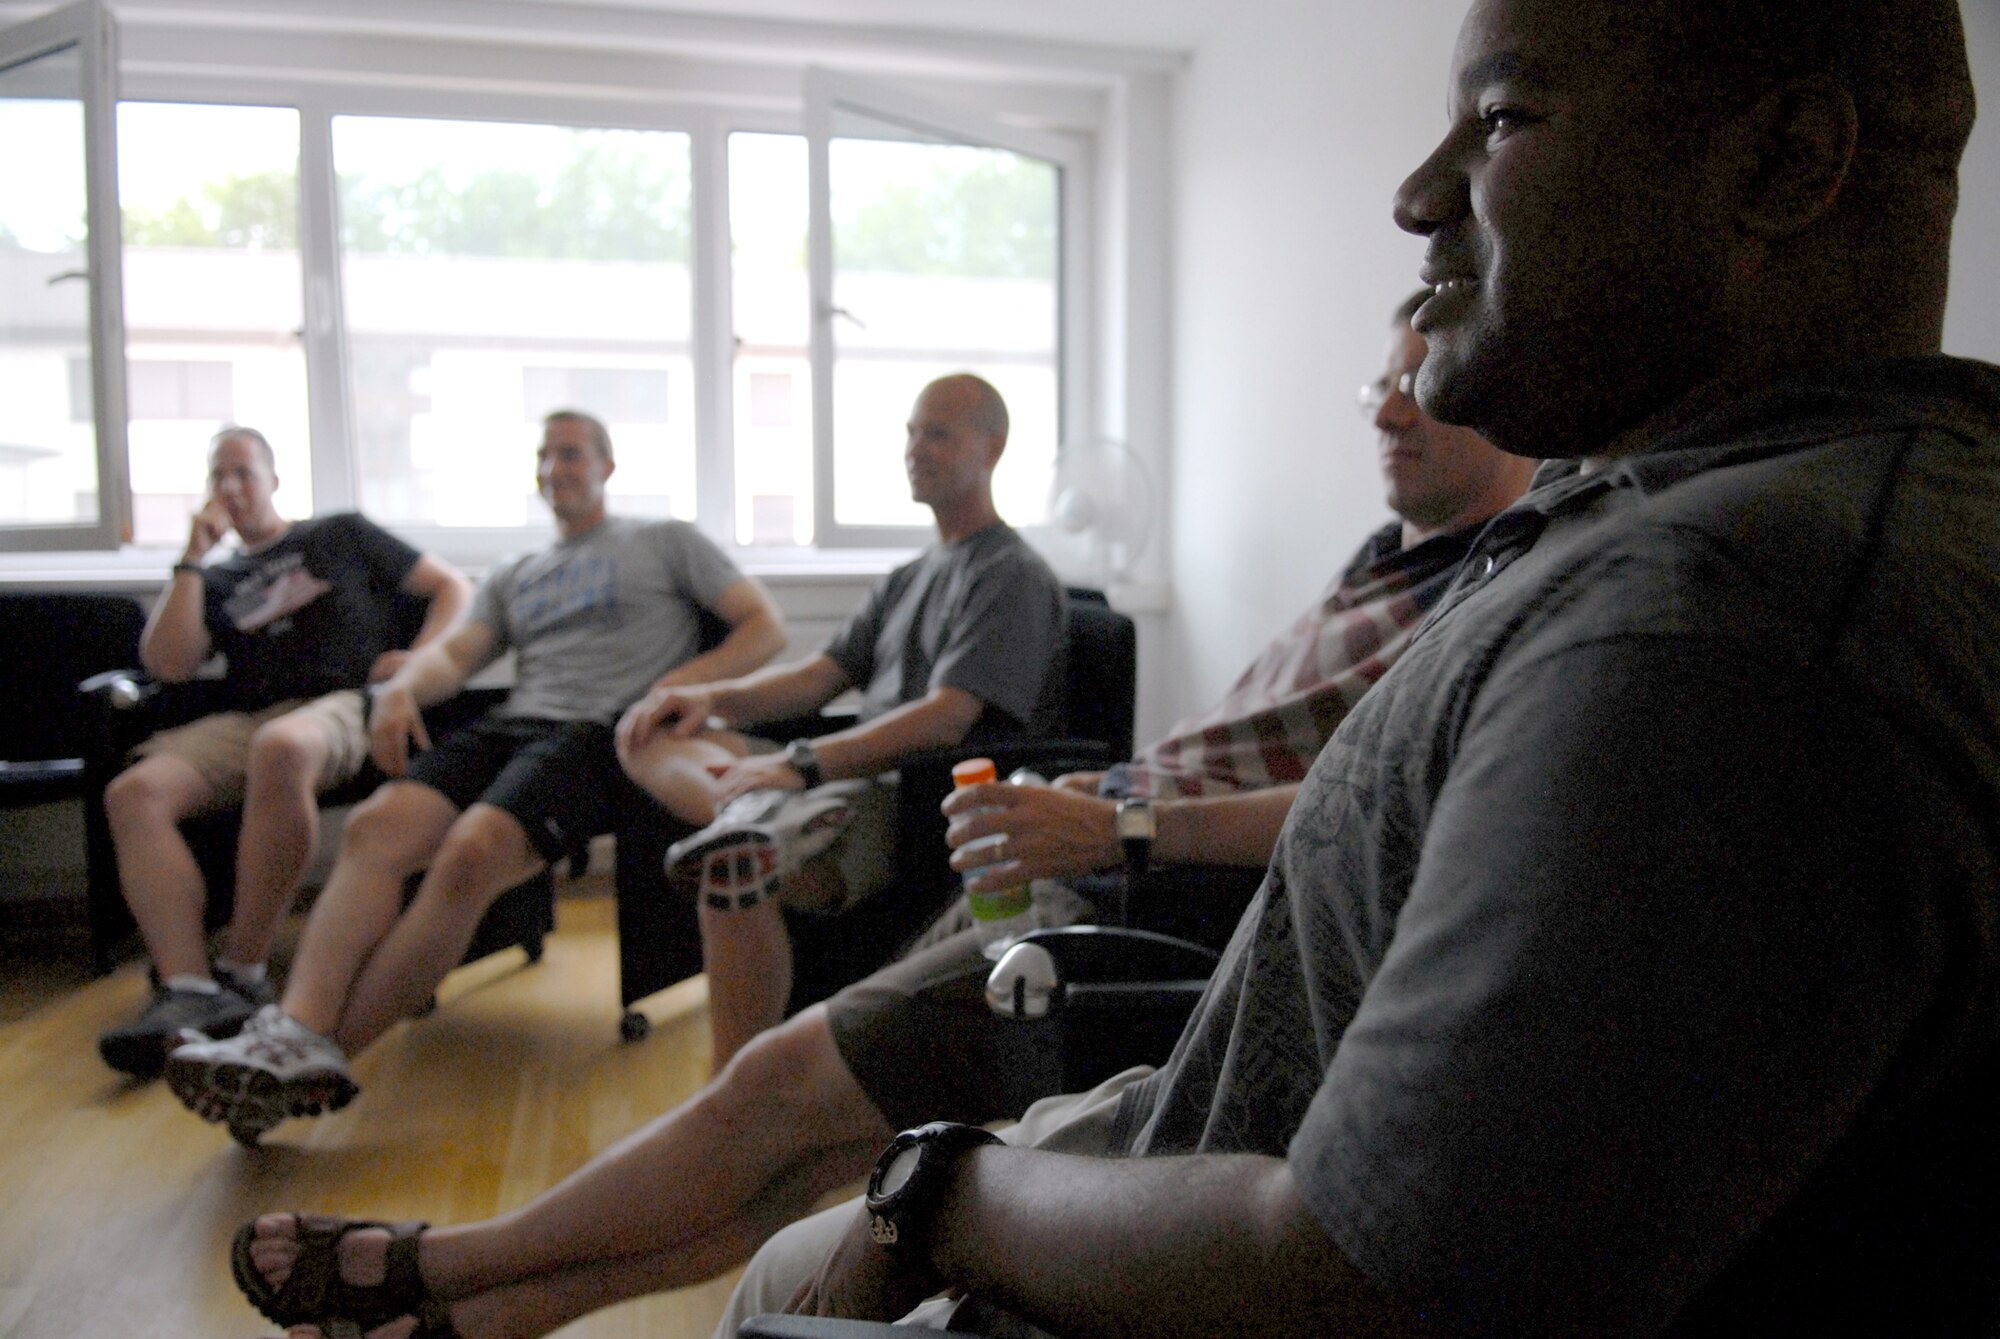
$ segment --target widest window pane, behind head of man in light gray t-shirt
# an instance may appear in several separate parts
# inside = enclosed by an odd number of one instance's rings
[[[334,118],[362,508],[520,526],[540,418],[606,422],[612,506],[694,518],[688,136]]]

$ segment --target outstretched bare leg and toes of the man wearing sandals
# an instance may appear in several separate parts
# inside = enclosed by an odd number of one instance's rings
[[[426,1231],[418,1273],[452,1303],[466,1339],[542,1335],[742,1263],[820,1195],[864,1175],[892,1133],[814,1005],[528,1205]],[[342,1277],[378,1281],[386,1245],[380,1231],[350,1233]],[[260,1219],[252,1259],[282,1285],[296,1259],[290,1217]]]

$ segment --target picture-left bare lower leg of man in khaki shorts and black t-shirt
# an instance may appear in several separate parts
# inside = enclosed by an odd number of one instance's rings
[[[180,835],[180,819],[216,803],[214,785],[188,761],[142,757],[104,787],[104,817],[118,853],[118,887],[160,977],[208,975],[202,923],[208,887]]]

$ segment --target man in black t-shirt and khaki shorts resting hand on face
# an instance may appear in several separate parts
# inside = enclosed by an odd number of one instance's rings
[[[98,1051],[136,1077],[160,1071],[184,1027],[228,1035],[268,1003],[264,959],[312,857],[316,795],[366,761],[362,689],[406,656],[396,596],[430,604],[422,646],[470,594],[442,560],[362,516],[278,516],[272,450],[252,428],[216,434],[208,480],[208,502],[140,638],[140,662],[180,681],[220,652],[230,709],[146,739],[104,791],[118,883],[158,989],[144,1013],[98,1039]],[[240,548],[204,564],[232,530]],[[236,895],[210,963],[202,873],[180,821],[230,805],[244,809]]]

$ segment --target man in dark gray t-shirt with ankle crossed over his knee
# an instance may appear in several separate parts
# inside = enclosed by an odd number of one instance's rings
[[[980,378],[926,386],[904,464],[938,544],[876,586],[812,660],[664,685],[618,723],[626,773],[702,825],[668,859],[700,879],[716,1069],[784,1017],[792,957],[780,903],[838,909],[888,885],[894,781],[880,773],[918,749],[1056,719],[1062,586],[994,510],[1006,432],[1006,404]],[[850,729],[782,753],[738,733],[816,711],[848,687],[862,693]]]

